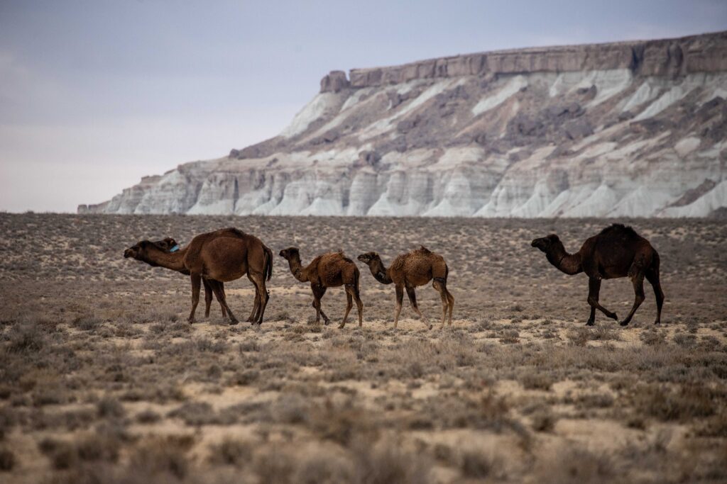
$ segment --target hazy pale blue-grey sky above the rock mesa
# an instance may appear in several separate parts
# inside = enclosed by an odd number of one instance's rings
[[[727,1],[0,0],[0,210],[275,136],[329,70],[727,30]]]

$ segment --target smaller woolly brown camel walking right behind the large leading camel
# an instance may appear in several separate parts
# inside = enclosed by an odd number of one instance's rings
[[[353,307],[353,300],[358,308],[358,327],[363,324],[364,303],[358,294],[358,277],[360,275],[356,263],[351,261],[342,251],[318,255],[307,267],[300,263],[300,251],[297,247],[289,247],[280,251],[280,256],[288,261],[290,271],[295,279],[300,282],[310,282],[310,290],[313,291],[313,307],[316,308],[316,324],[321,324],[321,316],[325,324],[331,321],[321,308],[321,298],[326,294],[329,287],[345,286],[346,291],[346,313],[339,329],[346,325],[348,313]]]

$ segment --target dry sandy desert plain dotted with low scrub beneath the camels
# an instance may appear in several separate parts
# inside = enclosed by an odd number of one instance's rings
[[[571,251],[610,221],[0,215],[0,481],[724,482],[727,225],[636,220],[662,255],[632,325],[588,316]],[[276,255],[262,327],[190,326],[188,278],[124,260],[138,239],[237,226],[277,254],[342,248],[449,263],[454,324],[427,331],[361,266],[364,327],[316,327]],[[228,284],[244,319],[252,285]],[[431,319],[431,287],[418,292]],[[605,282],[619,315],[627,279]],[[337,322],[342,290],[324,309]]]

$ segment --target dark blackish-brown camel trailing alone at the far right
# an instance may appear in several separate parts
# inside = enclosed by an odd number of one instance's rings
[[[648,240],[640,237],[634,229],[614,223],[603,229],[599,234],[583,242],[581,250],[569,254],[563,247],[563,242],[555,234],[550,234],[531,242],[545,253],[548,262],[566,274],[573,275],[585,272],[588,276],[588,304],[591,307],[590,317],[586,326],[593,326],[595,310],[598,309],[608,318],[618,321],[616,313],[608,311],[598,303],[598,293],[601,291],[601,279],[617,279],[629,277],[634,287],[635,300],[626,319],[621,326],[630,323],[634,313],[643,303],[643,278],[654,287],[656,297],[656,321],[662,319],[662,304],[664,292],[659,283],[659,253],[651,247]]]

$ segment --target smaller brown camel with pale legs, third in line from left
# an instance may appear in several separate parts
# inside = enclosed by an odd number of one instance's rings
[[[433,253],[422,245],[417,250],[399,255],[394,259],[389,268],[384,266],[379,254],[375,252],[361,254],[358,256],[358,260],[369,266],[371,274],[373,274],[374,279],[378,282],[382,284],[395,284],[396,310],[394,312],[394,327],[397,327],[399,322],[401,302],[403,300],[404,289],[406,289],[406,295],[409,296],[411,308],[424,321],[424,324],[427,324],[429,329],[432,329],[432,325],[429,324],[429,321],[422,314],[422,311],[419,311],[417,293],[414,290],[415,287],[428,284],[432,279],[434,279],[432,287],[439,292],[442,298],[442,323],[439,329],[444,327],[444,321],[448,311],[449,326],[451,326],[454,296],[447,290],[449,268],[441,255]]]

